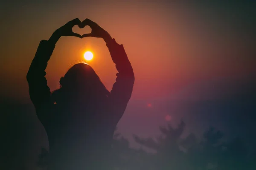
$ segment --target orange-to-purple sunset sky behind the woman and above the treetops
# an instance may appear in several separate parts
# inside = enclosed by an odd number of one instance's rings
[[[48,40],[53,31],[76,17],[93,20],[123,44],[134,68],[134,91],[118,124],[124,136],[155,136],[159,125],[177,125],[180,119],[186,122],[188,132],[201,133],[213,125],[233,134],[232,130],[248,121],[250,127],[256,93],[256,2],[243,2],[1,3],[0,99],[5,112],[1,114],[7,118],[4,127],[10,129],[13,123],[13,128],[21,128],[22,134],[29,136],[13,137],[25,143],[30,140],[22,145],[34,150],[26,153],[26,159],[41,147],[48,147],[29,99],[26,73],[39,42]],[[73,31],[84,34],[90,28],[75,26]],[[87,50],[94,54],[88,63],[111,90],[117,71],[105,42],[92,37],[61,37],[46,70],[52,91],[59,88],[58,81],[68,68],[84,61]]]

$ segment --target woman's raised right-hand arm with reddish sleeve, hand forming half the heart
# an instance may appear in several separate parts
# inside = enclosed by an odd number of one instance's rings
[[[116,64],[118,73],[116,74],[116,82],[113,85],[109,98],[116,109],[116,120],[119,120],[125,111],[133,90],[134,72],[131,63],[123,45],[116,43],[116,40],[112,39],[107,31],[89,19],[84,20],[80,26],[83,28],[86,25],[92,28],[92,32],[90,34],[84,34],[82,37],[103,38],[110,51],[111,58]]]

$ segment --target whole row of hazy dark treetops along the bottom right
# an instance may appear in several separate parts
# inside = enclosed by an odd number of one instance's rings
[[[173,128],[160,127],[162,133],[153,138],[140,138],[134,135],[137,143],[156,150],[154,156],[148,156],[143,169],[154,170],[244,170],[255,167],[253,159],[248,159],[247,150],[241,138],[224,141],[224,133],[209,127],[199,140],[193,133],[185,138],[181,135],[185,129],[183,121]],[[254,156],[255,157],[255,156]]]

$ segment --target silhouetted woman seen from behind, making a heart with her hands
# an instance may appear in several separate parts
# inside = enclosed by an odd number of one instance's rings
[[[90,34],[72,32],[73,26],[90,26]],[[109,92],[90,65],[79,63],[60,80],[51,93],[45,78],[47,62],[61,36],[101,37],[118,73]],[[116,124],[131,97],[134,73],[123,45],[103,28],[78,18],[42,40],[27,74],[29,95],[49,140],[49,170],[101,170],[111,168],[111,142]]]

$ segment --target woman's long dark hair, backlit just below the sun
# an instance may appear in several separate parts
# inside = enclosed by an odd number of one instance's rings
[[[101,102],[110,92],[93,68],[84,63],[73,65],[60,79],[60,89],[52,93],[54,102]]]

